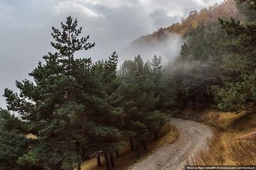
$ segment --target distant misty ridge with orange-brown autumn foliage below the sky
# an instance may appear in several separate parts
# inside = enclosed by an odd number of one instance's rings
[[[134,46],[152,46],[158,42],[165,41],[168,39],[166,34],[176,33],[183,35],[191,27],[197,27],[199,24],[208,24],[211,22],[216,22],[218,18],[228,19],[229,17],[241,18],[242,15],[238,11],[234,0],[227,0],[220,5],[214,5],[209,8],[204,8],[197,11],[191,11],[188,17],[185,20],[182,20],[181,23],[172,24],[166,28],[160,28],[155,31],[153,34],[148,34],[146,36],[141,36],[138,39],[131,42],[128,46],[128,49],[133,49]]]

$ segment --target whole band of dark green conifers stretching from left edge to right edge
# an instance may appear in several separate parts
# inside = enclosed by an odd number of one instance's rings
[[[67,17],[61,30],[52,28],[56,51],[29,74],[33,81],[16,81],[19,93],[5,89],[0,169],[80,169],[91,157],[100,166],[99,156],[111,169],[114,153],[130,146],[139,156],[182,107],[235,112],[255,106],[256,4],[240,2],[245,19],[190,28],[179,56],[166,66],[156,55],[151,61],[137,55],[120,68],[116,52],[94,63],[76,58],[95,44]]]

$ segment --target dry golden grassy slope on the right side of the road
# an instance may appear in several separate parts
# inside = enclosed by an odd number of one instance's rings
[[[217,112],[214,109],[184,109],[175,115],[214,127],[209,149],[200,151],[195,165],[254,165],[256,162],[256,112]]]

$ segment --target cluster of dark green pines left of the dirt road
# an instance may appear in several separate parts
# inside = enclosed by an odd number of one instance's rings
[[[166,122],[156,107],[161,58],[154,57],[151,69],[138,56],[117,71],[116,52],[96,63],[75,58],[94,46],[89,36],[79,38],[76,19],[67,17],[61,28],[52,28],[56,52],[29,74],[33,81],[16,81],[20,93],[5,89],[8,110],[22,121],[1,110],[1,167],[80,169],[82,161],[103,155],[110,169],[113,153],[129,141],[133,150],[146,150],[149,136],[157,137]]]

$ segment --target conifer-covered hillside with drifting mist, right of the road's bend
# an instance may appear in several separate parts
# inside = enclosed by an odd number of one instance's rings
[[[243,20],[186,31],[179,57],[167,68],[185,105],[208,101],[232,112],[255,106],[255,4],[246,2],[237,5]]]

